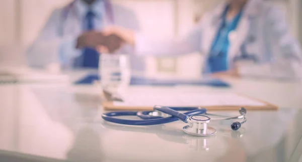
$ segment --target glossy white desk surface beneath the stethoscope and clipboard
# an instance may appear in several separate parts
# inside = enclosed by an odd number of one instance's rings
[[[81,75],[72,74],[73,78]],[[248,111],[240,131],[230,129],[231,121],[213,123],[217,135],[203,138],[185,134],[180,121],[140,127],[104,122],[99,89],[94,86],[0,85],[0,161],[297,161],[302,152],[301,84],[226,81],[232,88],[137,86],[128,90],[240,92],[281,109]]]

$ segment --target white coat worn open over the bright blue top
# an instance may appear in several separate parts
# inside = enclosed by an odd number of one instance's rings
[[[223,3],[204,15],[198,26],[180,41],[152,41],[143,34],[136,34],[138,55],[178,56],[192,52],[204,55],[203,72],[207,72],[207,58],[216,36],[221,16],[226,7]],[[268,2],[249,0],[237,29],[229,34],[229,65],[241,55],[245,46],[248,54],[258,58],[257,63],[237,62],[242,76],[299,78],[301,76],[301,50],[290,35],[287,23],[279,10]]]

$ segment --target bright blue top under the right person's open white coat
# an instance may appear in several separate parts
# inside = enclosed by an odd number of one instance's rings
[[[228,65],[228,50],[230,46],[229,34],[237,28],[239,20],[242,16],[242,10],[237,14],[233,20],[226,20],[226,13],[228,13],[229,6],[223,12],[222,23],[217,32],[216,38],[211,46],[210,55],[208,58],[209,72],[219,72],[229,70]]]

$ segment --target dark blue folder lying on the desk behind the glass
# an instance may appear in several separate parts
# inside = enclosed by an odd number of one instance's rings
[[[84,78],[76,81],[74,84],[92,84],[95,80],[99,80],[100,77],[97,74],[89,74]],[[152,85],[152,86],[176,86],[176,85],[206,85],[214,87],[231,87],[229,83],[226,83],[220,79],[201,79],[201,80],[162,80],[162,79],[150,79],[144,77],[132,76],[130,80],[130,85]]]

